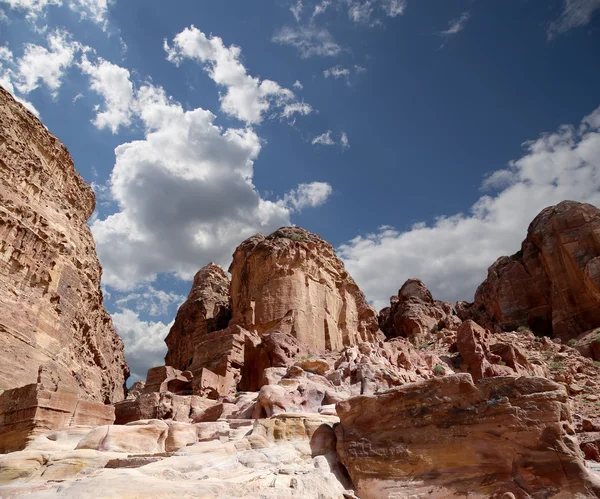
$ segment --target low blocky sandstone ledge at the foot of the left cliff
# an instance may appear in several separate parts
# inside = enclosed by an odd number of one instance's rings
[[[0,394],[0,453],[23,449],[49,430],[112,424],[111,406],[81,400],[77,391],[32,383]]]

